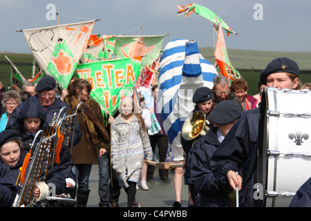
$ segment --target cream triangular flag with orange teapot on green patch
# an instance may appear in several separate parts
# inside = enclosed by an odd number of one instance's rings
[[[67,88],[88,39],[94,21],[23,30],[33,57],[47,75]]]

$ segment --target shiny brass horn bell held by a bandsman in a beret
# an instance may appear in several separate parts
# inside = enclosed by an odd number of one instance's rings
[[[205,120],[205,114],[202,111],[191,113],[182,125],[182,137],[185,140],[194,140],[198,136],[205,135],[208,131]]]

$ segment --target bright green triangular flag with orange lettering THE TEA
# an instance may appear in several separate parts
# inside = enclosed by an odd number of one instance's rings
[[[92,86],[90,96],[113,116],[119,102],[131,91],[140,73],[140,61],[132,58],[78,64],[77,77],[87,79]]]

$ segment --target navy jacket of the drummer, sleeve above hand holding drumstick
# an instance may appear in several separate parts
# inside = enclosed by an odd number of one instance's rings
[[[226,191],[233,190],[229,186],[227,172],[232,170],[241,173],[243,184],[239,191],[240,206],[257,206],[253,186],[256,182],[259,116],[259,108],[243,111],[243,116],[211,157],[211,169],[217,182]]]

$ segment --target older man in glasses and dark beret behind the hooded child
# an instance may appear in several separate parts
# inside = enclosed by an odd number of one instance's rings
[[[41,102],[44,111],[46,112],[46,123],[50,123],[53,120],[54,114],[59,113],[59,110],[66,106],[67,110],[69,110],[68,104],[60,101],[56,98],[56,81],[53,77],[47,76],[43,77],[39,80],[35,91],[37,92],[37,99]],[[19,112],[21,111],[25,102],[22,102],[15,108],[15,110],[10,115],[10,119],[8,119],[8,124],[6,125],[6,129],[10,129],[14,126],[19,126],[18,118]],[[73,140],[73,145],[79,143],[82,137],[82,133],[79,130],[79,124],[76,124],[75,128],[75,136]],[[59,164],[55,165],[55,169],[58,169],[61,173],[64,174],[66,177],[67,187],[74,187],[75,186],[75,175],[71,171],[73,166],[73,159],[70,153],[67,151],[66,148],[62,148],[60,153],[60,162]]]

